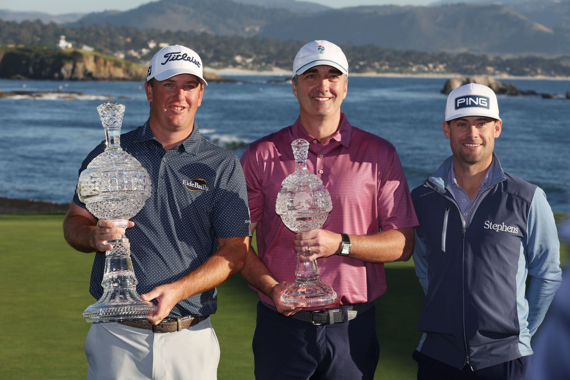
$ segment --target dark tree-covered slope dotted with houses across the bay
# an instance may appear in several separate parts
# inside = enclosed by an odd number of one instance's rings
[[[148,41],[183,44],[200,54],[206,67],[240,68],[247,70],[272,70],[284,68],[291,70],[292,60],[305,41],[260,39],[257,36],[216,36],[194,31],[158,31],[139,30],[133,27],[107,24],[83,25],[81,27],[42,24],[39,21],[22,23],[0,20],[0,51],[8,46],[19,44],[43,44],[42,51],[51,51],[57,56],[58,49],[50,49],[59,41],[59,35],[66,35],[74,46],[91,44],[96,51],[107,55],[126,56],[132,62],[140,63],[144,68],[152,55],[158,50],[148,48]],[[570,76],[570,56],[563,55],[547,59],[539,56],[504,57],[469,53],[422,52],[414,50],[386,49],[376,45],[355,46],[340,44],[347,55],[350,71],[376,73],[437,73],[450,75],[543,75]],[[35,50],[40,48],[34,47]],[[144,52],[143,52],[144,50]],[[130,52],[130,53],[129,53]],[[132,55],[139,54],[138,56]],[[51,59],[51,58],[50,58]],[[115,58],[111,58],[115,59]],[[117,60],[123,62],[122,60]],[[29,64],[13,61],[11,70],[25,70]],[[53,67],[50,64],[36,66]],[[51,70],[51,69],[50,69]],[[11,71],[16,75],[19,71]],[[21,74],[29,77],[27,74]],[[5,76],[11,76],[6,75]],[[95,79],[95,77],[93,77]],[[209,79],[207,79],[209,80]]]

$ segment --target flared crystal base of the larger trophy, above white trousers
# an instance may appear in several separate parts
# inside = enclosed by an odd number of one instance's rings
[[[127,289],[115,289],[111,294],[103,293],[103,296],[96,303],[89,306],[83,312],[83,317],[87,322],[116,322],[144,319],[157,312],[158,307],[153,303],[144,301],[132,289],[127,292],[117,291]]]

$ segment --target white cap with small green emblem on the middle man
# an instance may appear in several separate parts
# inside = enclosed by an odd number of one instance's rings
[[[348,75],[348,62],[340,47],[332,42],[316,40],[303,46],[293,60],[293,75],[299,75],[311,67],[327,65]]]

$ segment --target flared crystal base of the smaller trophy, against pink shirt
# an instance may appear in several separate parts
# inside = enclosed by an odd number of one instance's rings
[[[335,300],[336,292],[319,279],[297,279],[281,295],[284,305],[296,308],[329,305]]]

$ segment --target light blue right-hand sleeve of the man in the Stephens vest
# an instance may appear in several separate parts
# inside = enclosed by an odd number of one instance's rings
[[[560,242],[554,215],[540,187],[532,198],[524,238],[528,275],[531,276],[526,299],[528,301],[528,329],[531,336],[544,319],[552,298],[562,281],[560,269]]]

